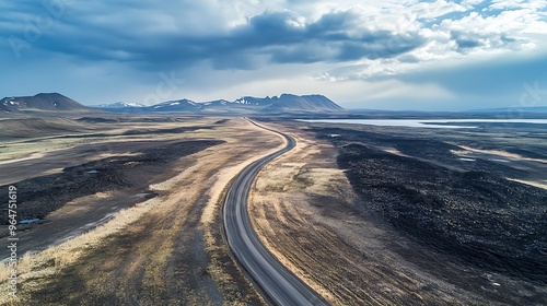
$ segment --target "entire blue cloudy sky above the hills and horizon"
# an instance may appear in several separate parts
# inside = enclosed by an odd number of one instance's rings
[[[348,108],[547,105],[547,0],[0,2],[0,96],[324,94]]]

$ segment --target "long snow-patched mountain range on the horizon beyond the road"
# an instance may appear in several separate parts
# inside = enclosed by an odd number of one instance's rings
[[[156,111],[189,111],[189,113],[233,113],[233,114],[284,114],[284,113],[330,113],[342,111],[344,108],[323,95],[282,94],[277,97],[244,96],[235,101],[217,99],[194,102],[177,99],[163,102],[152,106],[124,105],[124,103],[101,105],[96,108],[116,113],[156,113]]]

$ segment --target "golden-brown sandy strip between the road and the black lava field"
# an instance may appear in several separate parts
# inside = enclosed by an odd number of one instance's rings
[[[295,137],[298,146],[259,174],[252,219],[267,247],[333,304],[513,305],[545,295],[545,289],[466,267],[374,215],[356,213],[358,198],[336,167],[336,150],[303,130],[268,126]]]

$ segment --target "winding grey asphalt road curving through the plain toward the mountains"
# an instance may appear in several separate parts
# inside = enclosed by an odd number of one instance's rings
[[[245,167],[233,180],[226,192],[223,208],[224,231],[232,254],[258,284],[261,292],[277,305],[328,305],[316,292],[289,271],[269,252],[258,238],[247,212],[247,198],[258,172],[274,158],[295,146],[295,140],[276,132],[287,140],[287,145]]]

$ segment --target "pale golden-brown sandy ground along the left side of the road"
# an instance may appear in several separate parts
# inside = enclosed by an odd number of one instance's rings
[[[222,240],[219,199],[234,175],[282,145],[282,140],[243,119],[231,119],[214,130],[166,138],[220,139],[225,143],[182,157],[170,179],[150,186],[159,197],[126,208],[93,231],[74,232],[74,238],[23,259],[18,299],[2,294],[0,304],[264,304]],[[115,205],[115,192],[90,195],[48,217],[84,216],[90,203],[110,201]],[[4,280],[5,270],[1,273]]]

